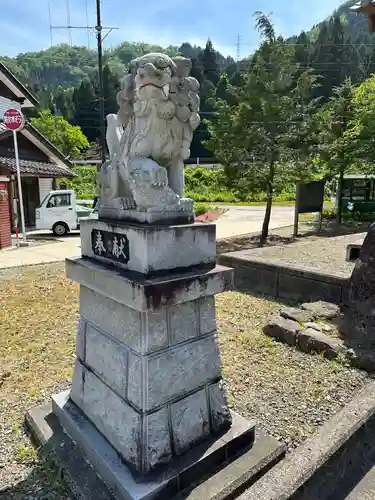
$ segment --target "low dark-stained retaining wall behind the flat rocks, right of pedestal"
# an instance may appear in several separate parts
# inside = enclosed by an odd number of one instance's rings
[[[326,274],[315,268],[282,261],[254,259],[251,251],[222,254],[220,264],[235,270],[235,287],[273,297],[298,301],[326,300],[335,304],[346,301],[348,276]]]

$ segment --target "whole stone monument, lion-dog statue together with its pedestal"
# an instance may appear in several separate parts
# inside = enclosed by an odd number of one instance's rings
[[[72,387],[53,413],[121,500],[172,498],[254,441],[221,380],[214,295],[233,271],[184,198],[200,120],[190,69],[158,53],[132,61],[108,116],[99,215],[66,261],[80,320]]]

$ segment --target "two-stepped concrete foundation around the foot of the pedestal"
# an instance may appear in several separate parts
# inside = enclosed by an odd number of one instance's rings
[[[57,405],[65,411],[64,401],[63,395],[57,400],[55,398],[56,411]],[[199,446],[189,457],[179,459],[173,470],[168,469],[158,478],[141,483],[133,478],[94,426],[88,420],[82,422],[82,414],[79,410],[78,414],[74,413],[73,409],[74,405],[65,414],[71,422],[71,427],[66,428],[69,434],[60,426],[51,404],[30,410],[26,415],[26,425],[36,443],[42,446],[43,453],[63,469],[72,495],[78,500],[229,500],[253,484],[285,453],[284,447],[275,439],[262,433],[257,433],[254,441],[254,424],[233,414],[234,424],[227,434],[210,445]],[[63,423],[66,425],[67,422]],[[91,448],[90,463],[83,458],[82,448],[75,442],[72,434],[76,432],[83,439],[80,445],[86,443]],[[227,447],[223,447],[225,442]],[[232,449],[230,442],[234,445]],[[98,464],[102,474],[108,469],[112,489],[103,481],[104,476],[95,472]],[[129,496],[124,487],[132,487],[133,496]]]

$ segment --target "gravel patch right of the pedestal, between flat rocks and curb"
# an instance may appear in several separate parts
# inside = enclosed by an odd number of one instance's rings
[[[235,411],[295,448],[369,380],[365,372],[304,354],[262,332],[280,304],[244,293],[217,298],[224,377]]]

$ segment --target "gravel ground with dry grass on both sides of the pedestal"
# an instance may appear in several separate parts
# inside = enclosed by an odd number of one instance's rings
[[[230,405],[293,449],[369,376],[265,336],[266,318],[279,308],[263,297],[221,294],[218,330]],[[63,263],[0,272],[1,500],[70,500],[22,424],[28,408],[69,386],[77,318],[78,286]]]

